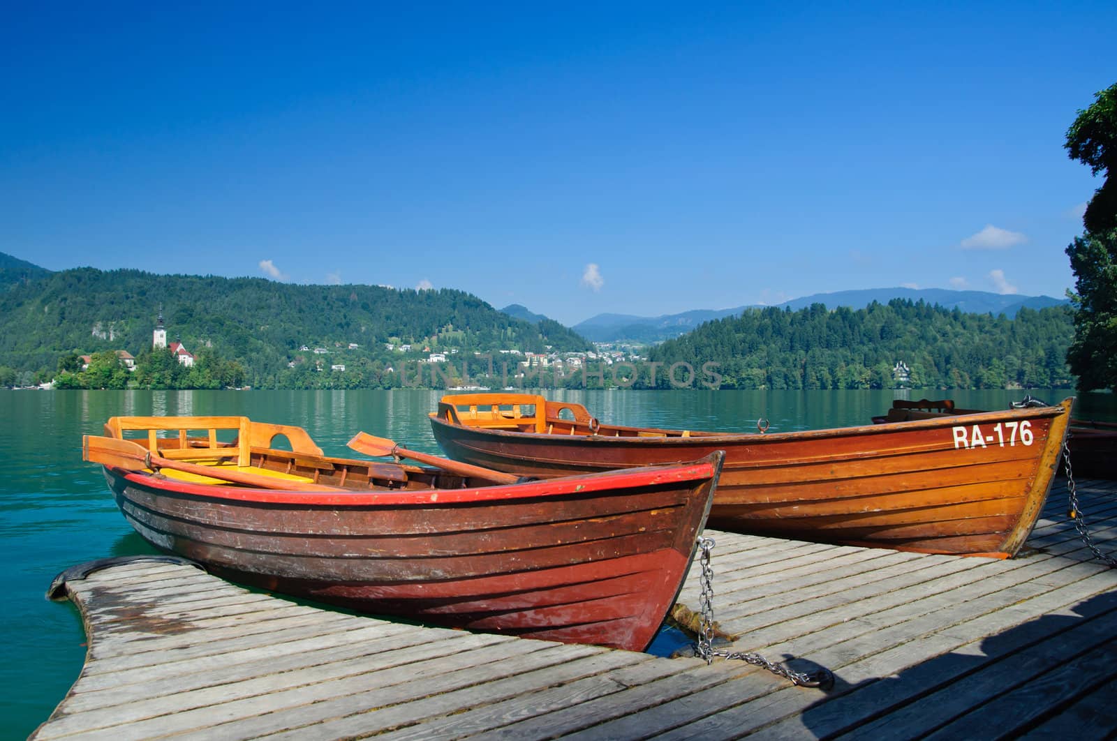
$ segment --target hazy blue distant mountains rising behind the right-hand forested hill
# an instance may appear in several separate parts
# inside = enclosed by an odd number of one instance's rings
[[[966,314],[1004,314],[1016,316],[1022,307],[1042,309],[1049,306],[1067,304],[1066,299],[1050,296],[1020,296],[991,293],[987,291],[956,291],[945,288],[867,288],[861,290],[836,291],[832,293],[813,293],[802,298],[780,304],[780,308],[802,309],[812,304],[823,304],[828,309],[839,306],[851,309],[863,309],[872,301],[887,304],[894,298],[908,299],[914,302],[924,301],[955,309]],[[738,306],[732,309],[694,309],[681,314],[665,314],[658,317],[638,317],[627,314],[599,314],[574,325],[579,335],[595,343],[617,340],[634,340],[658,343],[684,335],[698,325],[723,317],[736,316],[747,308],[761,308],[757,305]]]

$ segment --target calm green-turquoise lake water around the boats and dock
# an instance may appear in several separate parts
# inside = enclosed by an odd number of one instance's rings
[[[570,391],[555,400],[585,404],[605,422],[752,432],[867,424],[903,392]],[[953,392],[960,407],[1006,408],[1025,392]],[[1047,402],[1065,389],[1029,392]],[[939,398],[910,392],[911,398]],[[82,461],[82,435],[101,434],[114,415],[242,414],[305,427],[327,455],[349,455],[360,430],[437,453],[427,421],[441,392],[79,392],[0,391],[0,529],[8,581],[0,635],[0,734],[23,739],[45,721],[77,679],[85,634],[69,603],[45,598],[64,569],[109,556],[153,552],[125,523],[101,468]],[[1117,397],[1087,394],[1075,416],[1117,421]],[[716,569],[716,554],[715,554]],[[715,604],[715,609],[716,609]]]

